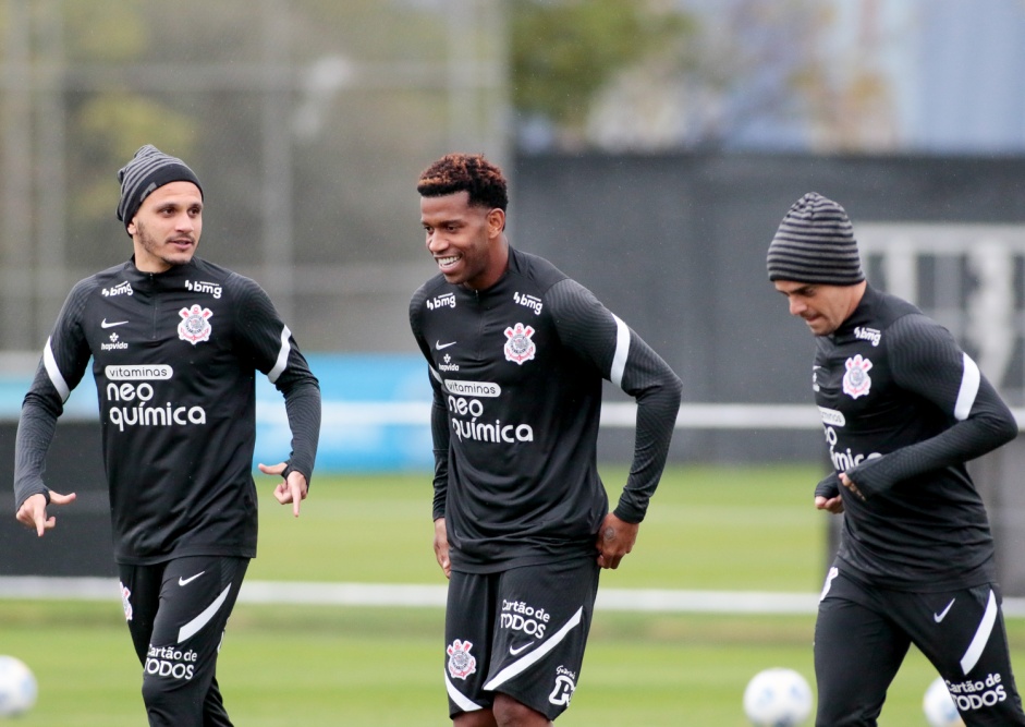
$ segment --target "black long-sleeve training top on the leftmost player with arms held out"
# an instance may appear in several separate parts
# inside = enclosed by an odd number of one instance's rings
[[[46,452],[90,358],[115,560],[254,557],[256,372],[284,395],[289,468],[307,481],[320,429],[319,384],[264,290],[199,258],[161,274],[129,260],[80,281],[22,405],[16,507],[49,492]]]

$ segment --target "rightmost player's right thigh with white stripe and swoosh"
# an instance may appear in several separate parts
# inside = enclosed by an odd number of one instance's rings
[[[947,681],[965,724],[1025,725],[997,585],[904,601],[906,629]]]

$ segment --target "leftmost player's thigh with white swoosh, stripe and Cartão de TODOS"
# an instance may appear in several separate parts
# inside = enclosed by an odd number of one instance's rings
[[[224,627],[247,566],[246,558],[222,556],[168,561],[144,678],[181,682],[212,678]]]

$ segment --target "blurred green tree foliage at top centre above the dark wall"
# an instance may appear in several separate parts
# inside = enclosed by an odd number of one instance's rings
[[[512,0],[510,24],[516,110],[570,130],[617,72],[680,53],[696,29],[690,15],[639,0]]]

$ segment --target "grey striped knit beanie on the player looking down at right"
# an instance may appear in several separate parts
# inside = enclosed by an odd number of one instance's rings
[[[769,245],[769,280],[853,286],[865,279],[843,207],[808,192],[786,213]]]

